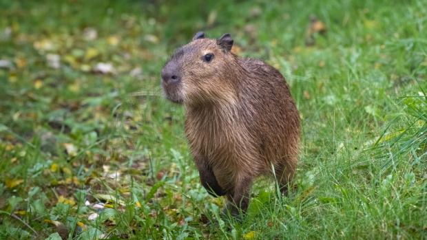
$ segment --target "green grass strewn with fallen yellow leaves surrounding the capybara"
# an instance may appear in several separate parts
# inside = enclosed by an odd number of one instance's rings
[[[427,2],[280,2],[0,0],[0,239],[427,239]],[[259,179],[242,222],[161,94],[198,30],[280,69],[302,117],[298,188]]]

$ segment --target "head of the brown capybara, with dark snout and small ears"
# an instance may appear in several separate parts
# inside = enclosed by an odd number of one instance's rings
[[[233,95],[236,56],[231,53],[233,39],[207,39],[198,32],[193,40],[178,48],[162,69],[162,87],[166,98],[185,105],[202,105],[227,100]]]

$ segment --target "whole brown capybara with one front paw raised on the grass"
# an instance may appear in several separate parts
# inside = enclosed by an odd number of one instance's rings
[[[198,32],[162,70],[165,96],[183,103],[185,134],[213,196],[227,195],[232,215],[249,204],[253,179],[275,173],[282,193],[295,173],[298,109],[277,69],[231,53],[233,39]]]

